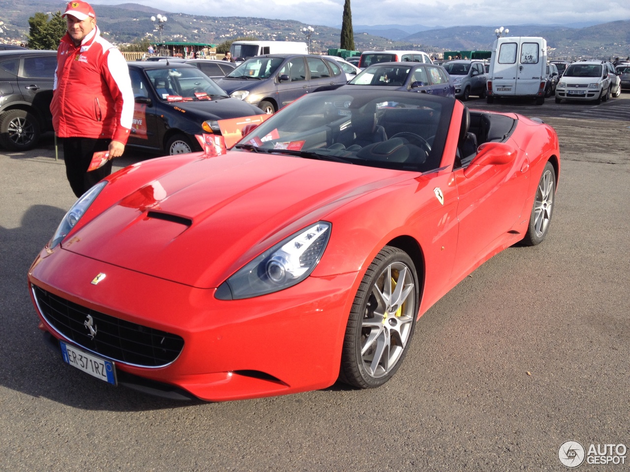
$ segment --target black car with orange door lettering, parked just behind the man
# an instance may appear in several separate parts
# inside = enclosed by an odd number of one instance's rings
[[[183,62],[129,62],[134,122],[128,146],[159,154],[201,150],[195,135],[221,134],[217,120],[260,115],[230,98],[197,67]]]

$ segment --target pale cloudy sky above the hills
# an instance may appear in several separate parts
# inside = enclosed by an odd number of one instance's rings
[[[344,0],[129,0],[171,13],[251,16],[340,26]],[[93,0],[116,5],[123,0]],[[630,20],[628,0],[352,0],[353,25],[503,26]]]

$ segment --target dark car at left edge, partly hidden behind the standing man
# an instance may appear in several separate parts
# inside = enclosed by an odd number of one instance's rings
[[[0,145],[11,151],[32,149],[52,131],[52,85],[56,51],[0,51]]]

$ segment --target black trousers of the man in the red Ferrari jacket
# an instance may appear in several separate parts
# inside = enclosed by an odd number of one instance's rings
[[[111,159],[105,166],[88,172],[92,155],[97,151],[106,151],[111,141],[111,139],[64,138],[66,176],[77,198],[112,173]]]

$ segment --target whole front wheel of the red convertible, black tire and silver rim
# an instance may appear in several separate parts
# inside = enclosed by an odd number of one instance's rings
[[[358,388],[383,385],[408,351],[420,306],[411,258],[386,246],[367,268],[350,310],[340,380]]]

